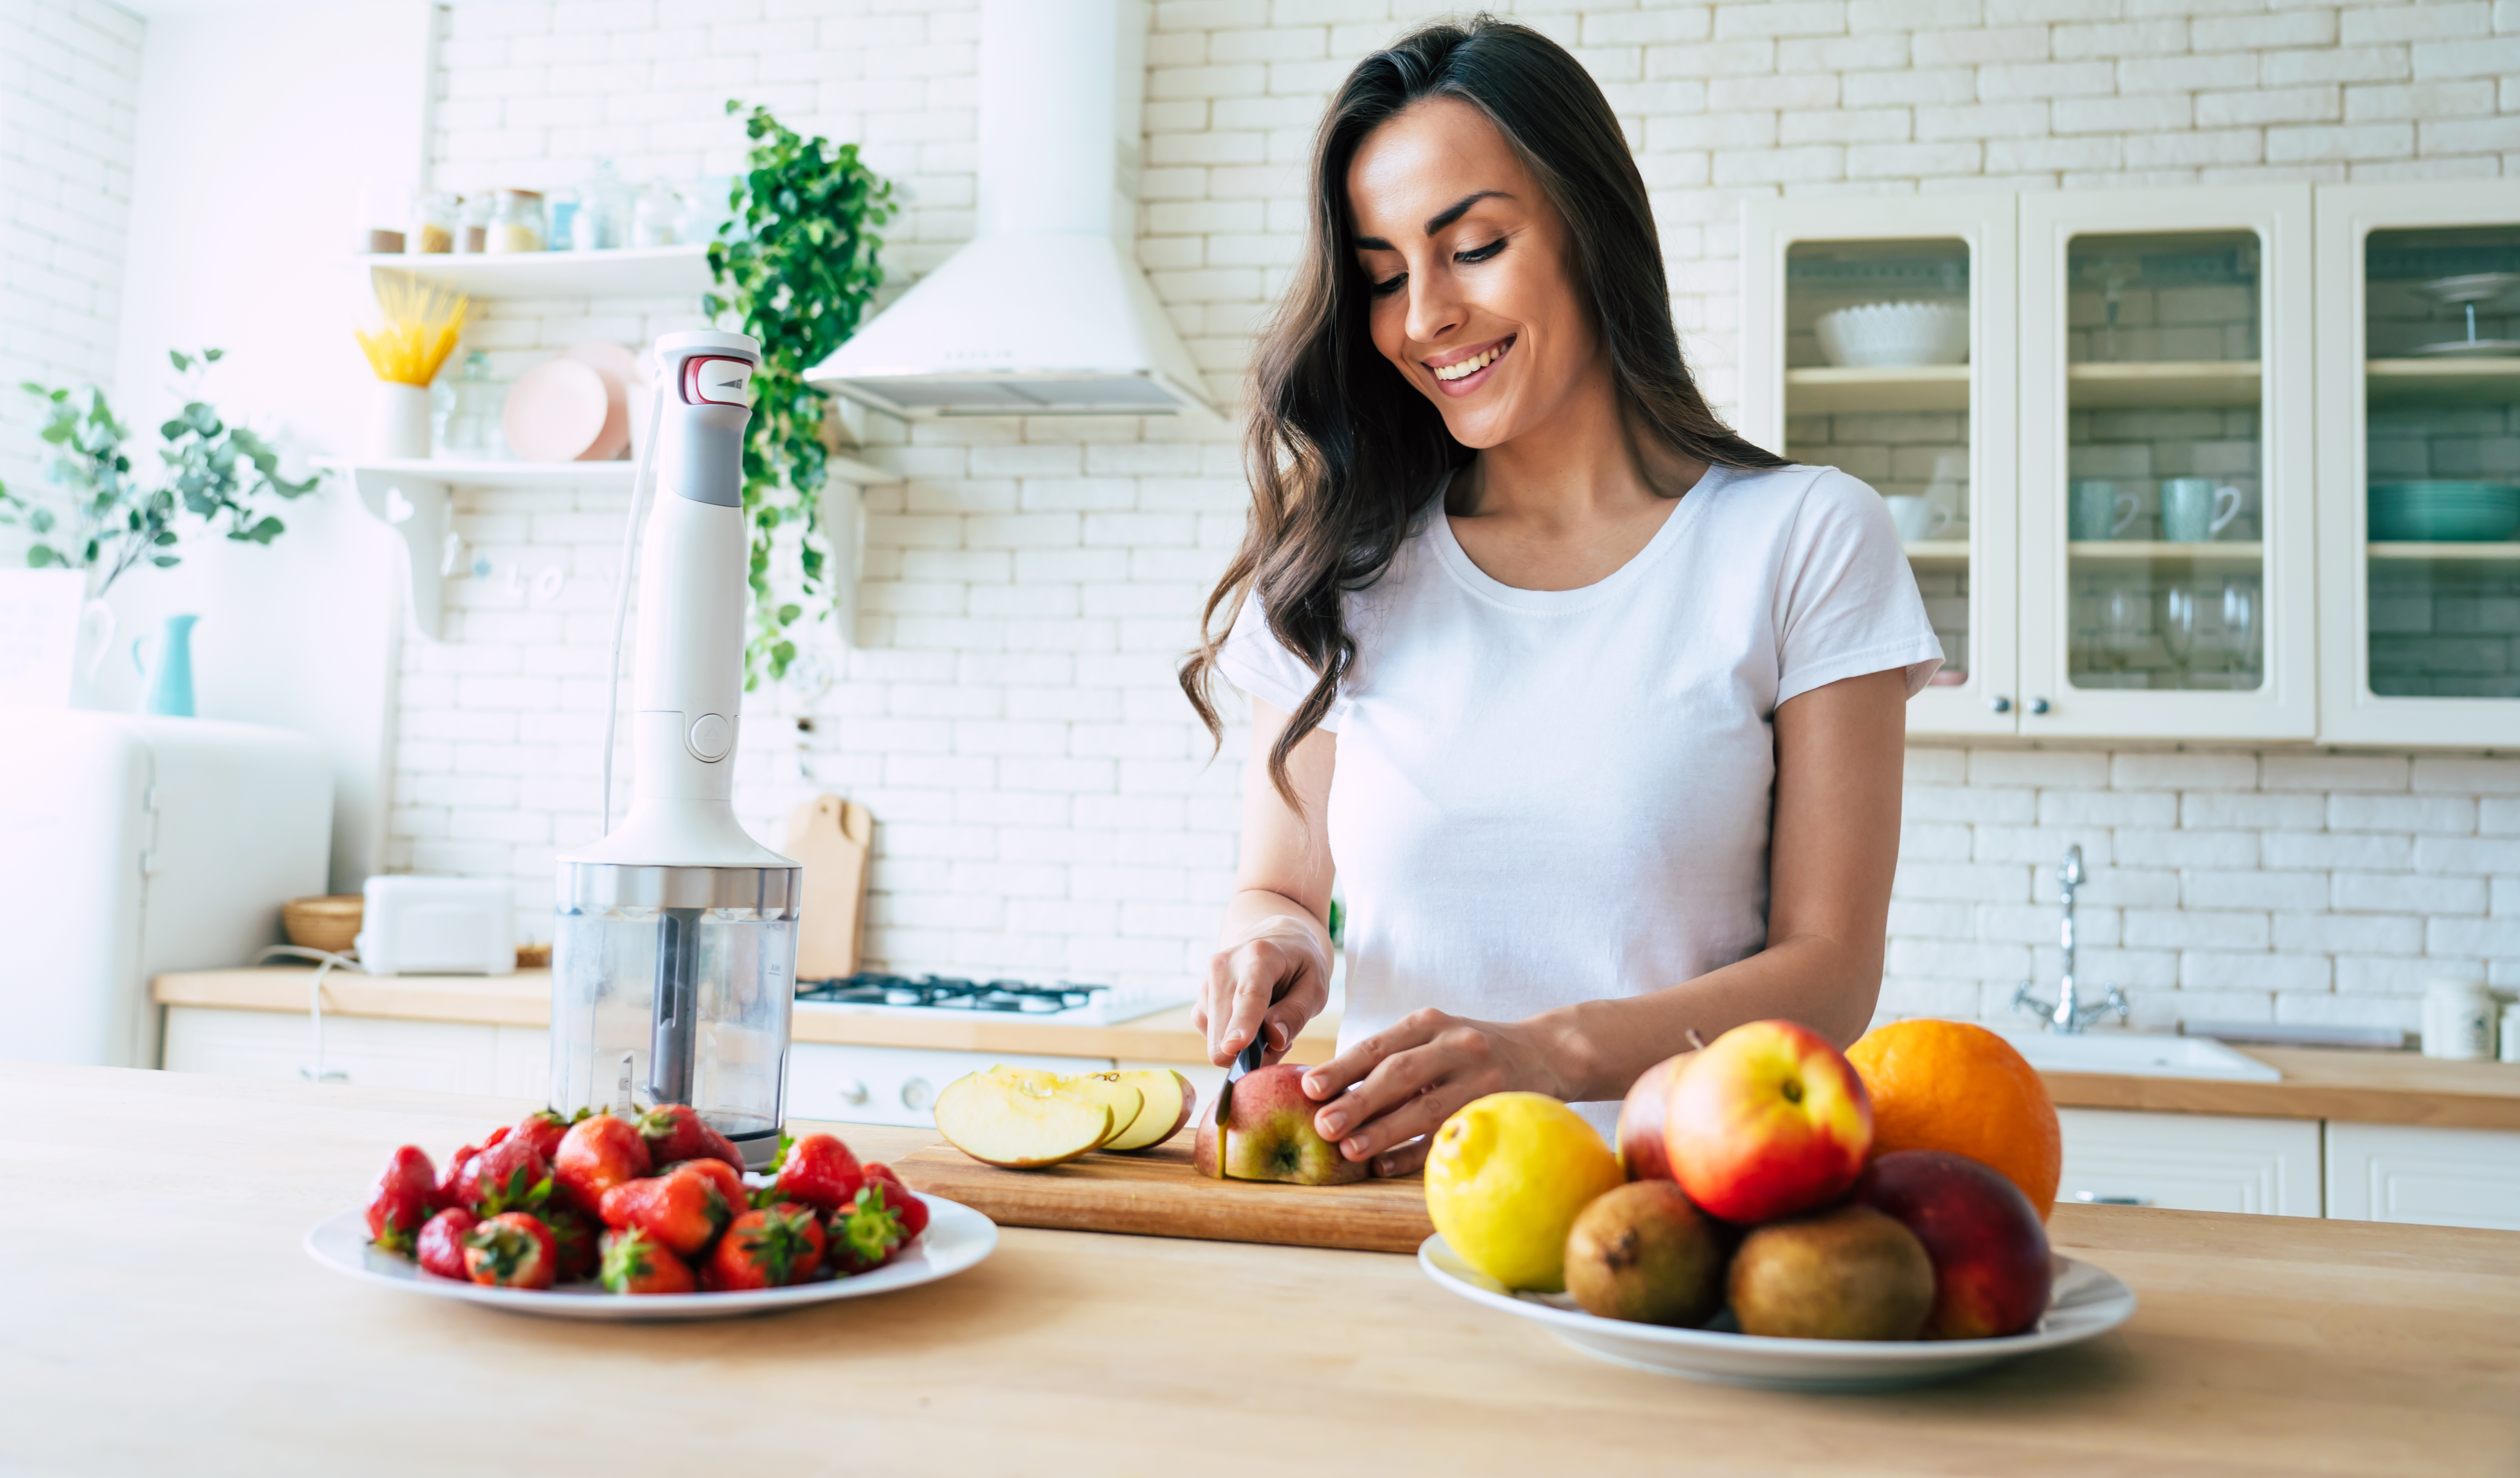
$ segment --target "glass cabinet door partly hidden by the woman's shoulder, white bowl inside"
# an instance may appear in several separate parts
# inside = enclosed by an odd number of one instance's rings
[[[1908,729],[2011,734],[2011,202],[1751,202],[1744,227],[1744,434],[1882,494],[1943,641]]]

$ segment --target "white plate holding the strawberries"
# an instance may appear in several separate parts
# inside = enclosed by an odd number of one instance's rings
[[[663,1322],[663,1319],[736,1319],[743,1314],[776,1314],[832,1299],[864,1299],[915,1289],[937,1279],[950,1279],[975,1266],[998,1248],[998,1223],[960,1201],[920,1196],[927,1203],[927,1231],[910,1251],[895,1261],[857,1274],[854,1279],[829,1279],[822,1284],[796,1284],[791,1289],[748,1289],[741,1294],[650,1294],[625,1299],[607,1294],[600,1284],[567,1284],[559,1289],[486,1289],[459,1284],[436,1274],[423,1274],[421,1264],[381,1251],[368,1243],[368,1221],[358,1211],[328,1216],[307,1231],[307,1256],[368,1284],[383,1284],[403,1294],[431,1299],[456,1299],[464,1304],[489,1304],[512,1314],[542,1314],[547,1319],[610,1319],[610,1322]]]

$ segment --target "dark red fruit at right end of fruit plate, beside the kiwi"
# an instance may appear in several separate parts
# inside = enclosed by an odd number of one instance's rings
[[[2054,1264],[2039,1211],[1998,1170],[1950,1150],[1893,1150],[1855,1201],[1903,1223],[1933,1261],[1928,1339],[2021,1334],[2046,1314]]]

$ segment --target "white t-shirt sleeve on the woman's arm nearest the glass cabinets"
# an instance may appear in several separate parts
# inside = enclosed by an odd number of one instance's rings
[[[1777,580],[1777,704],[1890,668],[1913,699],[1943,666],[1890,507],[1827,467],[1812,479]]]

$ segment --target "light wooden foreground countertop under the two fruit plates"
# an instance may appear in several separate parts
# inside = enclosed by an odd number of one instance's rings
[[[2512,1473],[2520,1233],[2059,1206],[2139,1309],[1898,1395],[1595,1362],[1389,1254],[1008,1228],[902,1294],[570,1324],[318,1269],[386,1150],[522,1100],[0,1067],[8,1473]],[[849,1127],[862,1153],[922,1135]],[[703,1417],[701,1412],[708,1412]]]

